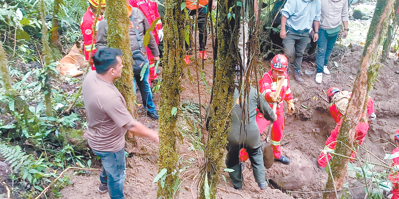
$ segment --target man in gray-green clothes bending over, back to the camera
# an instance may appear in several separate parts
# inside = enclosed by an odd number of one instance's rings
[[[239,76],[245,74],[240,70],[240,66],[235,69],[235,90],[234,106],[231,112],[231,129],[227,137],[229,143],[226,146],[226,166],[233,169],[230,172],[230,180],[234,189],[242,189],[242,170],[239,158],[241,148],[247,149],[249,160],[251,161],[255,181],[261,189],[267,188],[265,166],[263,165],[263,152],[261,136],[255,121],[257,109],[263,114],[263,117],[269,121],[275,121],[276,116],[269,104],[263,99],[261,94],[253,87],[250,88],[248,96],[244,96],[243,90],[239,88]],[[240,101],[241,93],[241,101]],[[245,108],[243,108],[243,106]],[[209,110],[209,109],[208,109]],[[212,113],[207,113],[208,119]]]

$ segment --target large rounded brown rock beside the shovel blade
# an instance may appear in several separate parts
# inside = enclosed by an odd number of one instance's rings
[[[273,180],[279,187],[285,190],[300,189],[310,183],[313,177],[313,163],[307,156],[298,150],[288,152],[289,165],[275,162],[266,170],[266,178]]]

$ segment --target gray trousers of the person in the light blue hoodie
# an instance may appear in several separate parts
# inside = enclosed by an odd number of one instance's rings
[[[288,28],[288,27],[287,27]],[[282,40],[284,52],[294,72],[300,70],[303,53],[310,42],[309,30],[294,31],[288,28],[287,36]]]

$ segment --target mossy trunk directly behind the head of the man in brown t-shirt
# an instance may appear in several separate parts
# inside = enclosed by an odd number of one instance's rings
[[[132,115],[137,116],[134,106],[136,95],[133,91],[132,51],[128,35],[128,25],[130,25],[130,22],[127,16],[126,0],[107,0],[106,3],[107,11],[105,12],[105,18],[108,21],[108,46],[121,49],[123,53],[122,76],[115,80],[115,85],[125,98],[127,109]]]

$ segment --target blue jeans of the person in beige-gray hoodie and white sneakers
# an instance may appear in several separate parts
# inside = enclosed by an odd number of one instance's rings
[[[338,32],[339,33],[339,32]],[[317,73],[323,72],[323,66],[327,66],[332,48],[337,40],[338,33],[329,35],[325,29],[319,29],[319,40],[317,41],[316,67]]]

